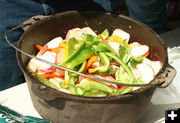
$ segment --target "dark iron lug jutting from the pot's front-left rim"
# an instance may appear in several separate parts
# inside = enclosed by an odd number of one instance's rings
[[[55,92],[56,90],[40,83],[32,83],[31,90],[36,96],[48,101],[53,101],[61,97],[59,93]]]

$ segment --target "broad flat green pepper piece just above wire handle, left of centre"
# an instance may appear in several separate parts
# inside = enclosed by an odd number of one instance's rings
[[[90,48],[83,48],[80,53],[71,61],[69,69],[74,69],[77,65],[82,64],[86,59],[91,57],[94,52]]]

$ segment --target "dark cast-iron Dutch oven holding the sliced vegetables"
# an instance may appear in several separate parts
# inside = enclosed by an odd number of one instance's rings
[[[139,41],[150,47],[151,60],[159,60],[162,68],[151,82],[157,86],[146,86],[119,96],[83,97],[52,89],[35,79],[26,69],[30,58],[17,52],[21,67],[37,112],[54,123],[133,123],[145,112],[157,87],[168,86],[175,76],[175,69],[168,64],[164,42],[152,29],[130,17],[100,12],[69,11],[47,17],[32,25],[20,38],[18,47],[36,54],[34,44],[44,45],[51,39],[65,35],[69,29],[89,26],[101,33],[116,28],[130,34],[130,41]],[[147,73],[148,74],[148,73]]]

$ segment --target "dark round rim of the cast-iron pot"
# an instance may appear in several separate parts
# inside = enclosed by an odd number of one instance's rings
[[[30,28],[28,28],[28,30],[26,30],[23,35],[20,37],[20,40],[18,41],[18,48],[21,49],[21,46],[22,46],[22,42],[23,42],[23,39],[24,37],[26,37],[26,35],[28,35],[32,30],[33,28],[35,28],[37,25],[43,23],[43,22],[46,22],[46,21],[49,21],[53,18],[56,18],[58,16],[63,16],[63,15],[66,15],[66,14],[71,14],[71,13],[77,13],[77,11],[67,11],[67,12],[62,12],[62,13],[57,13],[55,15],[51,15],[50,17],[47,17],[47,18],[44,18],[40,21],[38,21],[37,23],[33,24]],[[79,13],[79,12],[78,12]],[[166,46],[162,40],[162,38],[156,33],[154,32],[150,27],[146,26],[145,24],[141,23],[140,21],[132,18],[132,17],[129,17],[129,16],[118,16],[118,15],[114,15],[114,14],[111,14],[111,13],[108,13],[108,12],[92,12],[92,11],[86,11],[86,12],[81,12],[81,13],[101,13],[101,14],[110,14],[112,16],[117,16],[117,17],[121,17],[121,18],[124,18],[126,20],[129,20],[129,21],[133,21],[134,23],[137,23],[138,25],[141,25],[145,28],[147,28],[151,33],[153,33],[153,35],[158,38],[158,40],[160,41],[162,47],[163,47],[163,50],[164,50],[164,55],[165,55],[165,61],[164,63],[162,64],[162,67],[160,69],[160,71],[158,72],[158,74],[156,75],[156,77],[150,82],[150,83],[154,83],[155,80],[157,79],[157,76],[160,76],[160,74],[163,73],[163,71],[165,70],[166,66],[168,65],[168,56],[167,56],[167,49],[166,49]],[[44,85],[43,83],[41,83],[39,80],[35,79],[31,74],[30,72],[26,69],[26,66],[24,65],[23,61],[22,61],[22,57],[21,57],[21,53],[16,51],[16,58],[17,58],[17,61],[18,61],[18,64],[20,66],[20,68],[22,69],[22,71],[24,73],[27,74],[28,77],[30,77],[31,79],[33,78],[33,80],[39,82],[39,86],[40,85]],[[33,84],[33,82],[31,82]],[[157,83],[158,84],[158,83]],[[108,97],[86,97],[86,96],[78,96],[78,95],[72,95],[72,94],[68,94],[68,93],[65,93],[65,92],[62,92],[62,91],[59,91],[59,90],[55,90],[53,88],[50,88],[46,85],[44,85],[47,89],[47,91],[52,91],[54,93],[57,94],[57,98],[59,97],[64,97],[64,98],[67,98],[67,99],[74,99],[74,100],[80,100],[80,101],[112,101],[112,100],[116,100],[118,98],[125,98],[125,97],[131,97],[131,96],[134,96],[136,94],[141,94],[143,93],[144,91],[146,91],[147,89],[150,89],[150,88],[153,88],[155,86],[146,86],[146,87],[141,87],[133,92],[130,92],[130,93],[127,93],[127,94],[123,94],[123,95],[117,95],[117,96],[108,96]],[[156,88],[156,87],[155,87]]]

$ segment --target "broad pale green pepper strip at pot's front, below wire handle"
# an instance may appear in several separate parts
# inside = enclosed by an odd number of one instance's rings
[[[78,86],[83,88],[86,91],[96,89],[96,90],[100,90],[100,91],[104,91],[104,92],[108,92],[108,93],[113,93],[112,88],[110,88],[109,86],[107,86],[103,83],[99,83],[99,82],[95,82],[95,81],[84,81],[84,82],[81,82]]]

